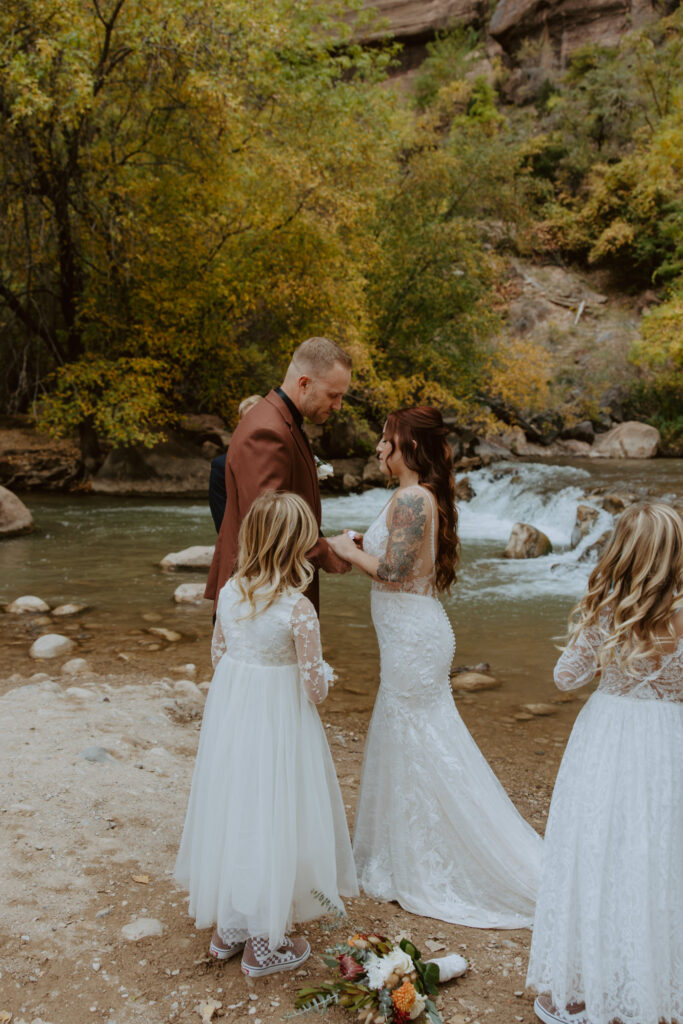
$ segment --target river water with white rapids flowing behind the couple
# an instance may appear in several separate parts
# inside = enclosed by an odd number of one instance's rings
[[[597,521],[571,549],[578,505],[597,487],[672,499],[682,492],[683,460],[497,463],[469,475],[475,496],[459,506],[462,565],[453,594],[443,599],[457,638],[455,664],[486,662],[510,697],[543,699],[552,691],[557,638],[593,564],[581,556],[613,522],[599,499],[589,500],[600,509]],[[365,529],[388,497],[374,488],[326,498],[325,531]],[[207,505],[95,496],[29,495],[25,500],[37,530],[0,544],[0,601],[36,594],[50,605],[86,604],[112,635],[144,626],[142,616],[157,613],[160,625],[208,643],[207,609],[176,606],[172,600],[179,583],[200,581],[205,573],[167,573],[158,564],[170,551],[215,541]],[[547,534],[553,553],[502,558],[517,521]],[[334,702],[370,707],[379,660],[369,581],[356,571],[323,574],[322,602],[326,656],[342,670]],[[58,628],[55,623],[45,631]]]

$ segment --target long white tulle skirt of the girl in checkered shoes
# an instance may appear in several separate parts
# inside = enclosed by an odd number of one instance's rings
[[[296,666],[224,654],[207,697],[174,871],[198,928],[282,942],[357,893],[339,783]]]

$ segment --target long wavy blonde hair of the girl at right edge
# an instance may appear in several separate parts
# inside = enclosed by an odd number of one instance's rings
[[[674,614],[683,606],[683,521],[670,505],[632,505],[569,616],[568,643],[582,630],[602,636],[600,669],[611,662],[635,673],[638,663],[676,642]],[[608,624],[608,629],[605,625]]]

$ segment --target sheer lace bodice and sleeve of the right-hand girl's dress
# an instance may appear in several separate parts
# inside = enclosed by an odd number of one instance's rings
[[[602,631],[592,627],[562,651],[554,673],[559,689],[573,690],[595,679],[601,643]],[[631,675],[612,662],[600,674],[598,689],[615,696],[683,701],[683,638],[670,654],[645,658],[636,671]]]

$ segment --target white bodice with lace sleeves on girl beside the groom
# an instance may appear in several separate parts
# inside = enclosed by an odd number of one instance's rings
[[[286,592],[253,617],[244,617],[249,606],[231,580],[220,592],[211,642],[214,669],[227,653],[236,662],[253,666],[298,665],[306,696],[319,703],[334,678],[323,660],[321,626],[315,608],[299,593]]]

